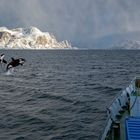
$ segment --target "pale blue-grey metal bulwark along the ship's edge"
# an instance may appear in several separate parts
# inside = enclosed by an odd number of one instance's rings
[[[121,111],[127,108],[130,96],[136,91],[135,86],[136,78],[134,78],[130,85],[120,92],[120,94],[114,98],[110,106],[107,108],[107,120],[102,135],[99,140],[105,140],[113,123],[118,123],[118,118],[121,116]]]

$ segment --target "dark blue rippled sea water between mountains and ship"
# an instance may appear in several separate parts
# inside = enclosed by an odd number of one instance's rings
[[[140,74],[140,51],[1,50],[0,140],[98,140],[106,107]]]

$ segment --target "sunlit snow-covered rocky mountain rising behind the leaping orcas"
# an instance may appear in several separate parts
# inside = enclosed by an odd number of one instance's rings
[[[0,49],[71,49],[68,41],[58,42],[36,27],[8,29],[0,27]]]

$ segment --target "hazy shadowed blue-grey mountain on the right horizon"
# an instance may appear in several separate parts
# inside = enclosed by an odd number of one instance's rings
[[[110,34],[93,40],[92,46],[95,49],[138,49],[140,32],[127,32]],[[90,41],[89,41],[90,42]],[[91,47],[92,47],[91,46]],[[123,48],[121,48],[123,47]]]

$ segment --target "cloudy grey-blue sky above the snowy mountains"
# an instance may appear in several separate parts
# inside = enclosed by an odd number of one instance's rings
[[[140,0],[0,0],[0,26],[35,26],[88,47],[104,36],[140,31]]]

